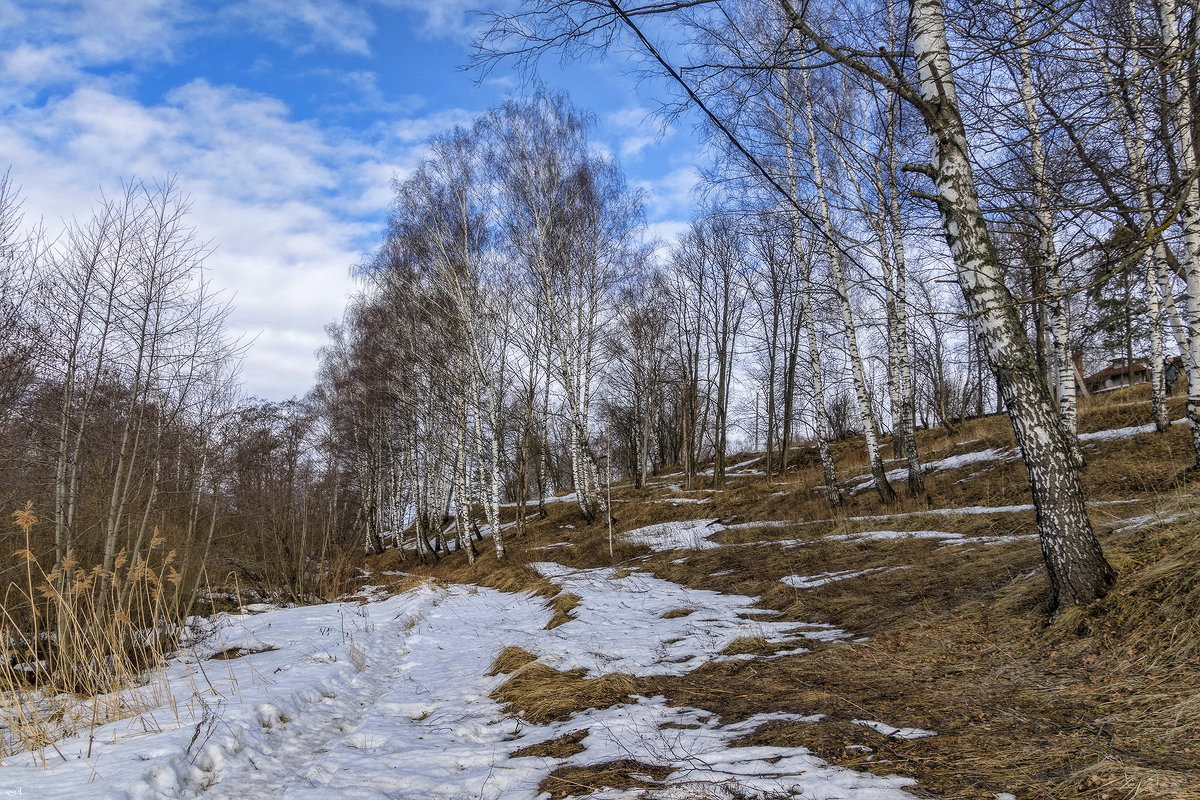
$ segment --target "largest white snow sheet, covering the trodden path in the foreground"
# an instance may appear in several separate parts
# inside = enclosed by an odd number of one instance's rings
[[[538,798],[560,765],[631,758],[670,770],[652,790],[592,798],[906,800],[912,781],[832,766],[803,747],[734,747],[760,715],[727,723],[660,697],[546,726],[509,715],[487,670],[506,645],[559,669],[684,674],[739,637],[839,640],[828,625],[776,622],[754,597],[689,589],[643,573],[538,565],[580,596],[571,621],[544,630],[541,599],[424,585],[360,603],[226,615],[167,670],[143,712],[60,740],[47,769],[32,753],[0,766],[0,794],[38,800],[407,800]],[[664,619],[672,609],[694,609]],[[212,660],[217,652],[240,657]],[[790,650],[804,652],[804,648]],[[906,729],[899,729],[906,730]],[[565,759],[510,758],[586,732]],[[894,735],[894,734],[888,734]],[[90,748],[90,754],[89,754]]]

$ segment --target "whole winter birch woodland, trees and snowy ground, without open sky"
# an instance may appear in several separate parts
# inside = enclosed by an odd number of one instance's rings
[[[526,84],[394,176],[290,401],[186,185],[59,231],[0,184],[0,788],[301,798],[324,747],[376,793],[324,796],[1198,796],[1195,2],[497,8],[469,68]],[[538,83],[574,59],[701,137],[679,235]],[[179,710],[318,628],[252,734]],[[137,715],[154,769],[89,788]]]

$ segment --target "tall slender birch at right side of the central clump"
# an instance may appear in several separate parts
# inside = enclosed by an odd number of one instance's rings
[[[506,247],[534,288],[562,390],[577,503],[592,522],[608,513],[590,441],[594,383],[607,303],[637,258],[640,200],[589,151],[587,119],[563,97],[510,101],[486,125]]]

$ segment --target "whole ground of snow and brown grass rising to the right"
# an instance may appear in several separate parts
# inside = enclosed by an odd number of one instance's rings
[[[1082,405],[1121,577],[1052,625],[1006,419],[922,432],[928,498],[859,491],[838,517],[815,455],[768,480],[745,453],[721,487],[614,486],[612,541],[551,503],[502,565],[391,551],[356,597],[217,615],[124,718],[8,757],[0,789],[1200,796],[1189,433],[1151,433],[1144,389]],[[839,468],[865,489],[859,450],[842,443]]]

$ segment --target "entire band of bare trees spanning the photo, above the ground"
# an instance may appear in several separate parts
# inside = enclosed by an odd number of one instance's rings
[[[1106,591],[1075,351],[1145,354],[1165,431],[1178,350],[1200,464],[1194,5],[528,0],[490,22],[484,65],[620,44],[678,86],[715,154],[686,233],[648,237],[568,100],[512,100],[397,180],[317,386],[272,404],[232,391],[174,186],[47,242],[4,182],[0,470],[46,553],[107,570],[158,530],[184,584],[227,542],[301,593],[347,539],[474,559],[486,531],[503,558],[504,503],[520,534],[562,491],[593,522],[619,477],[712,461],[719,483],[731,437],[772,474],[803,445],[836,506],[829,444],[858,435],[888,501],[887,434],[919,495],[917,427],[996,403],[1055,608]]]

